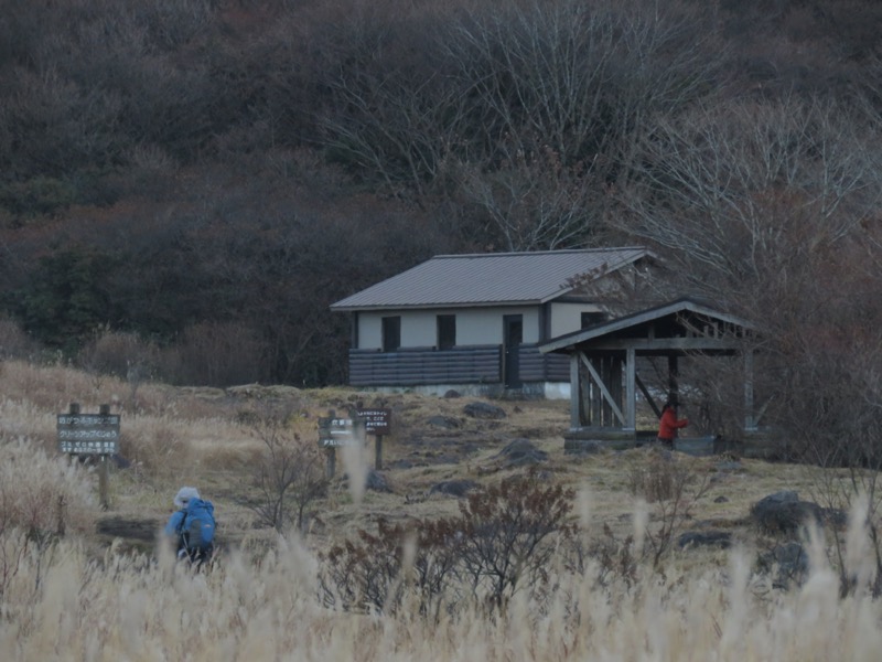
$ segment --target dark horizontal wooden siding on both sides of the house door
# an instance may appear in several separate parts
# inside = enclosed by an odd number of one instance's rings
[[[480,345],[438,351],[432,348],[398,352],[349,350],[352,386],[423,386],[430,384],[498,384],[499,345]],[[541,354],[537,345],[520,348],[524,382],[568,382],[569,356]]]

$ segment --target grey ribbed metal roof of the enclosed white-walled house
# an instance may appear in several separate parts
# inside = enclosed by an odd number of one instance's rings
[[[530,305],[573,289],[569,279],[596,279],[650,255],[643,247],[438,255],[332,303],[336,311]]]

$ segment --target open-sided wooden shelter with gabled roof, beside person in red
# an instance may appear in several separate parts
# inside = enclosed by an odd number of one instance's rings
[[[751,324],[690,297],[561,335],[540,345],[542,353],[570,357],[568,439],[636,442],[637,392],[657,416],[656,399],[679,397],[678,362],[684,356],[743,356],[744,429],[756,430]],[[667,359],[667,388],[653,391],[641,380],[643,357]]]

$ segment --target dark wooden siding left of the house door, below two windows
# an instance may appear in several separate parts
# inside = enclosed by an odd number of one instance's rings
[[[352,386],[421,386],[426,384],[497,384],[499,345],[407,349],[398,352],[349,350]]]

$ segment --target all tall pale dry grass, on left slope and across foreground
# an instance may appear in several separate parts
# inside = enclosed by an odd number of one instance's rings
[[[882,606],[862,589],[875,565],[861,502],[846,536],[849,576],[858,583],[846,598],[820,534],[809,541],[808,579],[787,591],[754,574],[755,552],[739,548],[722,564],[684,563],[675,554],[659,568],[641,566],[627,580],[607,575],[603,583],[598,562],[589,559],[580,573],[549,568],[547,591],[518,591],[502,612],[463,598],[431,616],[416,595],[405,598],[413,608],[394,616],[327,608],[319,557],[298,538],[277,538],[268,551],[241,545],[205,573],[176,564],[162,547],[142,554],[115,543],[96,552],[89,535],[100,514],[95,477],[52,452],[54,414],[69,402],[86,410],[114,403],[125,383],[98,383],[61,366],[0,365],[0,493],[9,499],[0,509],[3,661],[869,662],[882,650]],[[207,465],[247,465],[259,444],[249,447],[256,441],[232,414],[189,408],[142,385],[137,410],[123,414],[141,468],[127,472],[132,482],[125,490],[111,485],[112,498],[130,508],[157,506],[179,482],[204,479]],[[620,466],[622,488],[623,473]],[[353,502],[365,498],[359,484],[352,489]],[[585,537],[594,533],[592,504],[603,506],[604,499],[577,504]],[[635,537],[644,540],[647,519],[635,513],[633,521]]]

